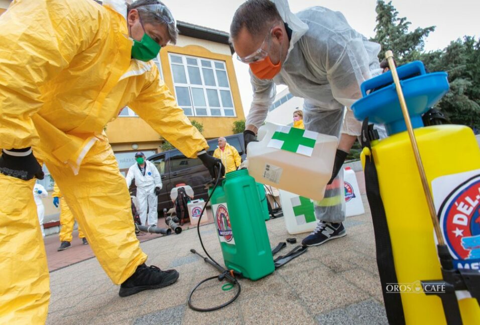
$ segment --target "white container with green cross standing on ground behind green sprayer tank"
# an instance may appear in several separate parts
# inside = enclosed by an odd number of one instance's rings
[[[317,225],[313,201],[297,194],[279,190],[285,225],[289,234],[311,232]]]

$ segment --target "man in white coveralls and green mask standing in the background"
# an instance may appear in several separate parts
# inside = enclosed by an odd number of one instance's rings
[[[137,185],[137,200],[139,202],[140,221],[142,225],[148,221],[149,226],[157,226],[158,212],[157,201],[162,189],[162,178],[157,167],[150,161],[145,160],[143,152],[135,154],[136,164],[130,166],[127,173],[127,187],[130,187],[135,179]],[[147,220],[148,209],[148,220]]]

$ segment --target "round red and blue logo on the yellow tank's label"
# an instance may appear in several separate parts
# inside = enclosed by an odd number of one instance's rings
[[[438,216],[455,267],[477,268],[480,262],[480,175],[454,189],[440,206]],[[473,265],[475,264],[475,265]]]

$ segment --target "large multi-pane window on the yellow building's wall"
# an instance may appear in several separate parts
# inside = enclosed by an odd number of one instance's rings
[[[235,116],[225,62],[170,54],[175,96],[188,116]]]

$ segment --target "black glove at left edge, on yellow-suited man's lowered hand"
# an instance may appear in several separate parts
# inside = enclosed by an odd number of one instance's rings
[[[30,147],[24,149],[2,150],[0,156],[0,173],[22,179],[31,180],[34,177],[43,179],[42,166],[35,159]]]

